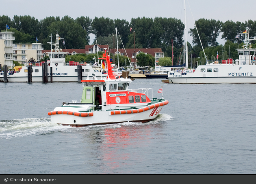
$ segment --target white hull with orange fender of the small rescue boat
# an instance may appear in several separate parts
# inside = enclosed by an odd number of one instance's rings
[[[96,110],[91,112],[74,112],[76,108],[55,108],[49,112],[51,121],[59,125],[72,127],[84,127],[88,125],[103,125],[122,122],[142,122],[152,121],[161,112],[163,106],[167,105],[167,100],[145,106],[140,109],[129,110]]]

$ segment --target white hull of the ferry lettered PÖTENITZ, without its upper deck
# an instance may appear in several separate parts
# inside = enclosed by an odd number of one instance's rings
[[[167,79],[169,83],[256,83],[256,65],[202,65],[186,75],[168,72]]]

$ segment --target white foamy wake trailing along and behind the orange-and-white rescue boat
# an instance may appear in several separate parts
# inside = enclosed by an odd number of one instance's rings
[[[51,122],[51,118],[24,118],[14,120],[2,120],[0,121],[0,139],[10,139],[30,135],[46,135],[49,133],[54,133],[56,131],[74,132],[106,128],[119,128],[124,126],[143,126],[162,123],[168,120],[172,120],[172,117],[168,114],[159,114],[153,121],[150,121],[148,123],[128,121],[117,124],[89,125],[87,127],[81,128],[57,125],[56,123]]]

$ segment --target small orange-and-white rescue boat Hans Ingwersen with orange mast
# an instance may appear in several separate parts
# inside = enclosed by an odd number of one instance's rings
[[[122,122],[149,122],[160,113],[169,102],[153,98],[152,88],[128,89],[132,80],[115,75],[105,53],[107,77],[82,80],[83,91],[80,102],[63,102],[61,107],[48,112],[51,121],[60,125],[83,127],[87,125],[112,124]],[[152,94],[152,98],[148,97]]]

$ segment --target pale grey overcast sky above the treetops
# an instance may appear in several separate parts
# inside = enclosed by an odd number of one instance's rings
[[[108,17],[129,21],[137,17],[174,17],[184,22],[184,0],[6,0],[1,2],[1,15],[30,15],[39,21],[50,16]],[[201,18],[220,21],[255,21],[256,0],[186,0],[187,28]],[[220,36],[219,36],[220,37]],[[93,42],[94,36],[91,36]],[[187,41],[192,43],[192,37]],[[219,44],[224,41],[217,39]],[[90,43],[91,43],[90,42]]]

